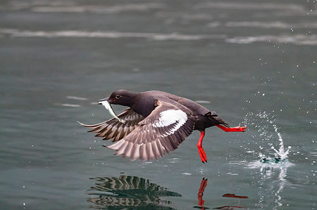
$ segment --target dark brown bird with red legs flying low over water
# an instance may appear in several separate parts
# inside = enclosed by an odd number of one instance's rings
[[[205,129],[218,126],[226,132],[245,131],[244,127],[230,127],[216,112],[187,98],[175,96],[163,91],[146,91],[132,93],[125,90],[114,91],[110,97],[99,100],[108,103],[128,106],[118,114],[123,121],[112,118],[94,125],[82,124],[97,133],[103,140],[112,139],[116,150],[114,155],[130,157],[132,161],[139,158],[143,161],[159,159],[168,152],[175,150],[192,131],[201,132],[197,147],[201,162],[207,162],[202,147]]]

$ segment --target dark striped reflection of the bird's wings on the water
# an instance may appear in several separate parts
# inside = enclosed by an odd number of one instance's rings
[[[93,209],[173,209],[172,202],[161,197],[180,197],[149,180],[137,176],[96,177],[89,189]]]

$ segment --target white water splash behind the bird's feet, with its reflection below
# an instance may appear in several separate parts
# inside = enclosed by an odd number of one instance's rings
[[[275,121],[275,115],[267,112],[250,112],[244,118],[249,130],[256,130],[251,137],[254,138],[254,143],[259,144],[261,150],[254,152],[260,159],[246,163],[246,166],[249,169],[260,169],[260,186],[270,185],[271,190],[259,191],[259,206],[265,206],[267,200],[271,199],[274,202],[273,209],[280,209],[283,206],[281,192],[287,185],[287,168],[293,164],[288,160],[291,147],[285,148],[282,134]],[[279,143],[274,146],[277,139]]]

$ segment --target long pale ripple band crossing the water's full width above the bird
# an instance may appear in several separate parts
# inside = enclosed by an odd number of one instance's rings
[[[317,25],[316,25],[317,27]],[[44,38],[104,38],[104,39],[149,39],[154,41],[199,41],[208,39],[223,39],[227,43],[232,44],[251,44],[254,42],[266,43],[282,43],[295,45],[316,46],[316,35],[306,36],[304,34],[297,35],[261,35],[256,37],[232,37],[228,38],[225,34],[160,34],[160,33],[144,33],[144,32],[110,32],[110,31],[82,31],[82,30],[65,30],[65,31],[30,31],[20,29],[0,28],[1,37],[44,37]]]

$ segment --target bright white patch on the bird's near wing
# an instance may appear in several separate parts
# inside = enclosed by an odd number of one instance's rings
[[[166,127],[171,124],[175,124],[172,129],[169,129],[168,132],[166,132],[166,135],[168,136],[170,134],[173,134],[175,131],[180,129],[180,127],[185,124],[187,121],[187,114],[183,112],[182,110],[166,110],[160,113],[159,121],[153,124],[154,127]]]

